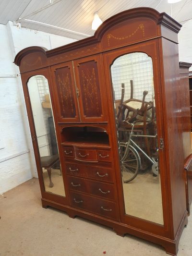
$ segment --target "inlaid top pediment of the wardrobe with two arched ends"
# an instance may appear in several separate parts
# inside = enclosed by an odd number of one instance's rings
[[[144,20],[146,24],[143,24]],[[103,44],[102,38],[105,37],[106,31],[108,31],[108,34],[110,34],[110,29],[113,28],[114,30],[115,26],[118,28],[121,24],[126,24],[129,26],[129,24],[133,23],[135,23],[135,30],[133,30],[130,35],[127,31],[121,30],[121,32],[118,31],[118,33],[120,32],[121,34],[112,35],[118,38],[115,40],[112,46],[106,46],[106,44],[108,44],[108,38],[104,40],[105,42]],[[148,29],[149,24],[151,24],[151,29]],[[74,60],[84,56],[103,52],[108,49],[135,44],[154,37],[161,37],[163,35],[161,34],[160,26],[166,27],[169,29],[169,31],[171,30],[175,33],[178,33],[181,28],[181,25],[165,12],[159,13],[152,8],[145,7],[130,9],[120,12],[103,22],[92,37],[84,38],[77,42],[48,51],[41,47],[28,47],[21,50],[16,55],[14,63],[20,66],[21,60],[24,58],[24,63],[20,67],[20,72],[23,73],[26,71],[35,70],[40,66],[42,67],[61,63],[63,61]],[[143,27],[145,27],[145,32]],[[144,35],[145,33],[147,33],[147,36]],[[108,37],[108,35],[106,35],[106,37]],[[168,37],[167,34],[166,37]],[[31,60],[32,54],[34,58],[33,60]],[[28,55],[28,57],[26,57],[26,55]]]

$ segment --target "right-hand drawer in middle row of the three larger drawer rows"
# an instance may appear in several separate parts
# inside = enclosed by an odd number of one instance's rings
[[[115,187],[113,184],[89,181],[90,194],[115,200]]]

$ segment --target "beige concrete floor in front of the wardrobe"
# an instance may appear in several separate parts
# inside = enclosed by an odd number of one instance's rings
[[[0,256],[166,256],[163,247],[41,207],[37,179],[0,196]],[[192,256],[192,217],[178,256]]]

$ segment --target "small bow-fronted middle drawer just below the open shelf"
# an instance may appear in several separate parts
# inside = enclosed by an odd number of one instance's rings
[[[85,149],[76,147],[75,158],[77,160],[98,162],[96,149]]]

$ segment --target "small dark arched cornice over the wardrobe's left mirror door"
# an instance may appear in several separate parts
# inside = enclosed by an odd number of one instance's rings
[[[17,55],[15,56],[15,59],[14,59],[14,63],[17,66],[20,66],[21,60],[24,58],[24,56],[26,56],[30,53],[34,53],[34,52],[41,52],[41,53],[46,55],[46,51],[47,51],[46,48],[39,47],[39,46],[27,47],[27,48],[25,48],[25,49],[23,49],[23,50],[21,50],[20,52],[17,53]]]

